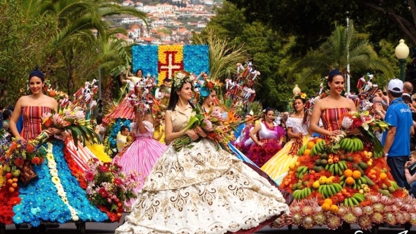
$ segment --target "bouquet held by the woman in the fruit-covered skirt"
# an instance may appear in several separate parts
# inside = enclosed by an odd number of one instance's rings
[[[332,136],[329,146],[336,146],[339,148],[341,140],[347,136],[347,133],[352,129],[359,129],[360,132],[367,138],[373,145],[374,157],[379,158],[382,155],[382,147],[379,139],[374,135],[377,131],[379,133],[384,132],[389,124],[385,121],[381,121],[370,116],[368,111],[363,112],[347,112],[339,120],[339,124],[343,129],[343,133],[340,135]]]

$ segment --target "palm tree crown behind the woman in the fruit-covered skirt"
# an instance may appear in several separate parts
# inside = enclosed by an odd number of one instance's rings
[[[387,60],[379,58],[366,37],[365,34],[354,30],[352,22],[348,31],[343,26],[337,26],[324,44],[295,62],[291,75],[301,71],[303,79],[308,80],[311,77],[328,74],[332,68],[346,72],[349,50],[352,74],[358,77],[369,71],[381,72],[382,79],[390,79],[394,76],[392,67]]]

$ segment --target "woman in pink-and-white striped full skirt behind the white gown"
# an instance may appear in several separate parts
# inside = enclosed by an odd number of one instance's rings
[[[135,194],[141,189],[146,177],[149,175],[157,159],[166,150],[167,146],[153,138],[155,132],[153,126],[152,114],[144,117],[136,113],[137,121],[134,125],[135,141],[130,146],[121,150],[114,157],[113,162],[121,166],[124,173],[136,173],[137,186],[134,189]],[[131,210],[136,199],[125,201],[126,210]]]

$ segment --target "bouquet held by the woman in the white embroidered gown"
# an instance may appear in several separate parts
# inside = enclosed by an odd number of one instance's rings
[[[203,112],[200,106],[197,106],[192,113],[186,130],[200,126],[207,133],[209,139],[223,147],[235,139],[232,130],[235,130],[238,125],[245,122],[236,117],[234,112],[225,112],[220,107],[211,108],[207,113]],[[173,141],[173,147],[176,151],[179,151],[184,146],[192,148],[193,146],[189,145],[191,141],[188,135],[182,135]]]

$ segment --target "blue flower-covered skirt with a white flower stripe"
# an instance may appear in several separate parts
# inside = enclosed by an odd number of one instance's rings
[[[63,142],[44,144],[47,153],[40,166],[34,166],[38,178],[21,186],[21,202],[13,207],[16,224],[38,226],[42,221],[71,222],[108,220],[105,213],[90,203],[64,158]],[[52,152],[52,153],[51,153]]]

